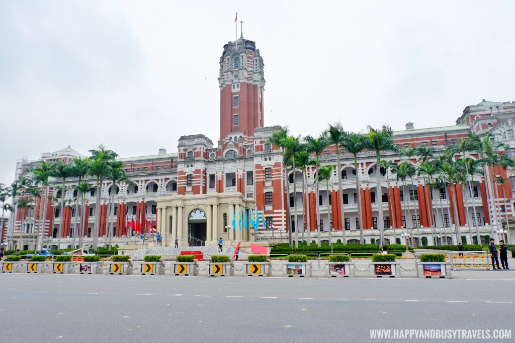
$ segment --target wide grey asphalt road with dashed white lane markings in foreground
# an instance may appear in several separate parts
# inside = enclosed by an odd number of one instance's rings
[[[515,329],[514,286],[513,279],[0,274],[0,341],[366,342],[385,341],[371,339],[370,329]]]

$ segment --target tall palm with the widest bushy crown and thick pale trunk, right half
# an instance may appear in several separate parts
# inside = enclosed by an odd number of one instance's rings
[[[390,150],[393,152],[399,151],[397,144],[391,139],[393,135],[393,130],[388,125],[383,125],[380,130],[376,130],[371,126],[368,126],[369,132],[365,134],[365,142],[367,148],[375,151],[375,164],[377,165],[376,170],[376,187],[377,187],[377,200],[378,202],[378,210],[379,210],[379,220],[377,220],[377,224],[379,225],[379,241],[380,244],[384,244],[384,223],[383,223],[383,199],[382,199],[382,191],[381,191],[381,182],[380,182],[380,174],[381,174],[381,152],[384,150]]]

